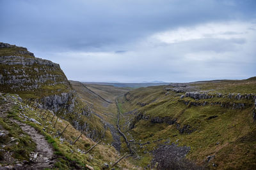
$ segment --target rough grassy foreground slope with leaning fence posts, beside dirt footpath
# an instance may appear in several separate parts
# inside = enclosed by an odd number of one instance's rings
[[[53,169],[84,169],[86,164],[94,169],[102,169],[104,163],[111,166],[121,156],[113,146],[108,145],[104,140],[85,154],[89,148],[95,145],[94,141],[82,135],[72,145],[81,132],[60,117],[52,118],[51,111],[36,110],[33,106],[19,101],[18,97],[14,94],[1,94],[0,96],[2,113],[0,117],[1,167],[26,168],[36,164],[36,160],[33,160],[34,155],[32,156],[31,153],[35,152],[36,145],[39,144],[33,142],[31,136],[22,131],[17,122],[35,128],[38,134],[42,134],[50,143],[54,157],[50,160],[53,164],[50,164],[49,167]],[[8,117],[7,120],[4,115]],[[63,132],[65,127],[67,129]],[[38,153],[38,157],[40,157],[40,153]],[[127,159],[120,161],[115,166],[116,169],[132,169],[133,167],[134,165]]]

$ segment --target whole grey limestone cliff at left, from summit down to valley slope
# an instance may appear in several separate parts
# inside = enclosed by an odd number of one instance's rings
[[[103,127],[95,127],[92,108],[81,102],[59,64],[39,59],[27,48],[0,43],[0,91],[36,101],[38,107],[54,111],[90,138],[99,138]]]

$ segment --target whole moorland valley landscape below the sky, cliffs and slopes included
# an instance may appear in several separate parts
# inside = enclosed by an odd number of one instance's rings
[[[256,168],[255,77],[83,83],[23,47],[0,57],[0,168]]]

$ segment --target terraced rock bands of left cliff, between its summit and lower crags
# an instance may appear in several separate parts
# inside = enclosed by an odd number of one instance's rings
[[[59,64],[38,58],[0,57],[0,87],[3,91],[37,91],[63,85],[70,89]]]

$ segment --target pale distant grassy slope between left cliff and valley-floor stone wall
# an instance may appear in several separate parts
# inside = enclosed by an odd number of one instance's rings
[[[121,153],[127,152],[126,144],[116,129],[117,108],[115,98],[124,95],[128,89],[109,85],[82,84],[78,81],[70,81],[82,101],[92,108],[92,115],[100,118],[104,124],[104,139],[115,146]]]

